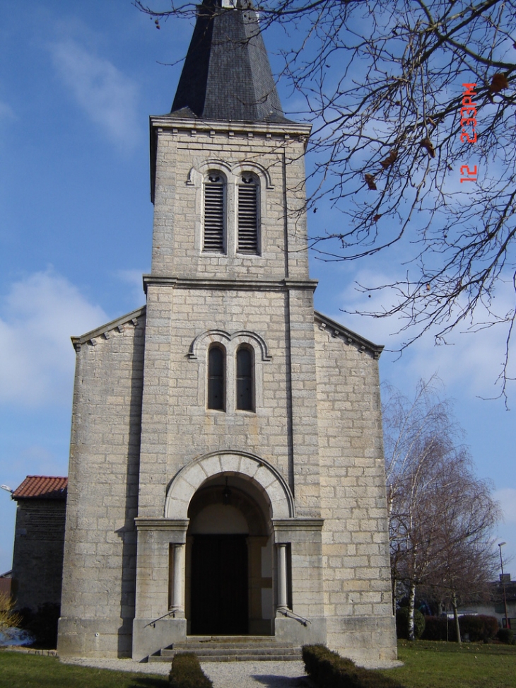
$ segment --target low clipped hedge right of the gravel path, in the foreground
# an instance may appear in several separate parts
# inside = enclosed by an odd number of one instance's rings
[[[375,670],[357,667],[324,645],[303,646],[303,662],[317,688],[404,688]]]

